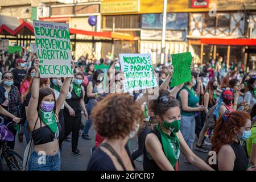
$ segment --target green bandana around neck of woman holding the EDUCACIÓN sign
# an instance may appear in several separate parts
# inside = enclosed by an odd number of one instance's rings
[[[40,116],[42,117],[42,121],[46,126],[56,134],[57,132],[57,122],[55,118],[54,111],[52,110],[51,112],[45,112],[42,109],[40,110]]]

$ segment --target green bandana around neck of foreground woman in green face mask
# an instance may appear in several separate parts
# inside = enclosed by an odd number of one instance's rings
[[[166,154],[166,158],[172,164],[172,167],[175,167],[175,164],[177,163],[177,160],[179,159],[180,156],[179,140],[177,139],[177,136],[174,132],[171,133],[174,135],[174,137],[171,137],[170,135],[163,133],[162,129],[160,129],[160,124],[156,126],[156,129],[159,131],[161,135],[164,154]]]

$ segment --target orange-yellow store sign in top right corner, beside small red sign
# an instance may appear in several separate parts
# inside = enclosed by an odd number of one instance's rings
[[[255,10],[255,0],[212,0],[211,3],[216,4],[218,11],[241,10],[242,5],[245,5],[246,10]]]

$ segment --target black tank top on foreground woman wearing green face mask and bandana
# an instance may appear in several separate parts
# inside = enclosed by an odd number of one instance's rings
[[[163,149],[163,143],[162,143],[162,139],[161,139],[161,135],[159,133],[158,130],[154,129],[154,130],[151,130],[148,134],[150,133],[154,133],[156,135],[156,137],[158,137],[161,145],[162,145],[162,150],[164,151]],[[143,159],[143,168],[144,168],[144,171],[162,171],[162,169],[160,169],[158,167],[158,164],[156,164],[155,160],[149,156],[147,150],[146,150],[146,146],[144,147],[144,159]]]

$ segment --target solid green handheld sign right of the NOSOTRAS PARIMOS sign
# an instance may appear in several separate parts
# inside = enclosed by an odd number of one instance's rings
[[[172,55],[172,65],[174,65],[174,73],[172,74],[171,87],[183,84],[187,81],[191,81],[191,62],[191,52],[176,53]]]

